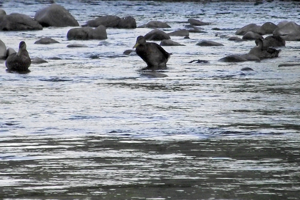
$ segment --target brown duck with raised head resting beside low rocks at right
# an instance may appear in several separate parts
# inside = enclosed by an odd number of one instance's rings
[[[255,40],[255,44],[256,46],[250,50],[249,54],[255,55],[260,59],[278,57],[278,54],[281,51],[281,49],[277,50],[271,47],[263,46],[263,41],[259,38]]]

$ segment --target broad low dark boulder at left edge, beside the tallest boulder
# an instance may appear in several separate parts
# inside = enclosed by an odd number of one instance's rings
[[[0,16],[1,31],[42,30],[43,27],[28,15],[11,13]]]

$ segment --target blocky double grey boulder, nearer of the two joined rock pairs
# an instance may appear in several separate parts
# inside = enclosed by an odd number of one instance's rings
[[[103,25],[93,29],[91,27],[72,28],[67,33],[69,40],[102,40],[107,39],[106,27]]]

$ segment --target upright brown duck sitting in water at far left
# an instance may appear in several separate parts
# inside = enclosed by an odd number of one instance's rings
[[[5,66],[7,70],[10,71],[28,71],[30,64],[31,59],[26,50],[26,43],[24,41],[19,43],[18,52],[9,54],[5,61]]]

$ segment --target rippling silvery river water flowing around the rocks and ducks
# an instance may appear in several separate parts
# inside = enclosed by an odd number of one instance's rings
[[[101,15],[164,21],[165,32],[189,18],[212,24],[188,40],[171,37],[186,46],[164,47],[173,53],[165,78],[143,76],[142,59],[123,54],[148,28],[108,28],[107,40],[88,41],[68,41],[70,27],[0,32],[7,47],[24,40],[31,58],[48,61],[28,74],[7,73],[0,61],[0,199],[299,199],[300,68],[278,65],[299,62],[300,43],[286,41],[275,59],[221,63],[255,43],[215,36],[250,23],[299,24],[299,3],[56,2],[80,25]],[[1,8],[33,17],[48,5]],[[34,44],[41,37],[60,43]],[[203,39],[225,46],[196,46]],[[195,59],[210,63],[188,63]]]

